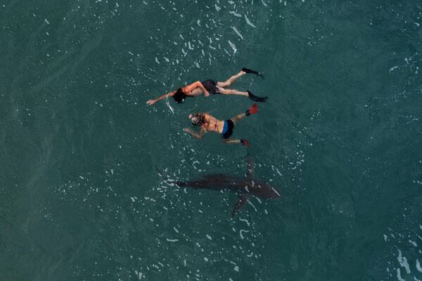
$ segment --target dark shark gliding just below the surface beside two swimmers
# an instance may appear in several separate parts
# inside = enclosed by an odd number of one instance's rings
[[[161,176],[161,174],[160,174]],[[263,199],[279,198],[280,192],[264,181],[255,179],[255,167],[252,158],[248,156],[248,172],[246,177],[228,174],[208,174],[196,181],[172,181],[180,188],[228,190],[238,195],[231,215],[235,216],[248,202],[248,196],[254,195]]]

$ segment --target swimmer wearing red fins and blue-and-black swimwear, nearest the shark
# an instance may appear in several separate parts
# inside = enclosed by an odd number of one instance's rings
[[[204,112],[194,113],[189,115],[192,124],[199,126],[199,133],[191,129],[185,128],[186,133],[191,133],[191,135],[196,138],[202,139],[204,133],[215,132],[220,133],[225,143],[241,143],[242,145],[249,146],[248,140],[246,139],[231,139],[230,136],[233,133],[234,125],[241,119],[258,112],[258,106],[254,103],[245,113],[236,115],[231,119],[225,121],[219,120],[212,115]]]

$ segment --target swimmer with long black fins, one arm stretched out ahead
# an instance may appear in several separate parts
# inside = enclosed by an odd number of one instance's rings
[[[233,75],[229,79],[227,79],[224,82],[219,82],[215,80],[208,79],[206,81],[200,82],[196,81],[195,83],[192,83],[188,86],[180,87],[179,89],[175,91],[170,91],[169,93],[165,93],[162,96],[159,96],[158,98],[155,98],[153,100],[147,100],[147,105],[153,105],[154,103],[158,102],[158,100],[163,100],[169,96],[173,97],[174,100],[177,101],[177,103],[181,103],[184,101],[187,97],[196,97],[204,94],[206,97],[210,96],[210,93],[213,95],[215,94],[222,94],[222,95],[239,95],[239,96],[248,96],[251,100],[255,101],[265,101],[267,100],[267,97],[259,97],[255,96],[251,91],[237,91],[232,89],[226,89],[227,87],[231,86],[231,84],[234,84],[234,81],[236,79],[242,77],[243,75],[247,73],[252,73],[257,76],[262,76],[259,72],[256,72],[255,70],[249,70],[248,68],[243,67],[241,72],[239,72],[236,75]]]

